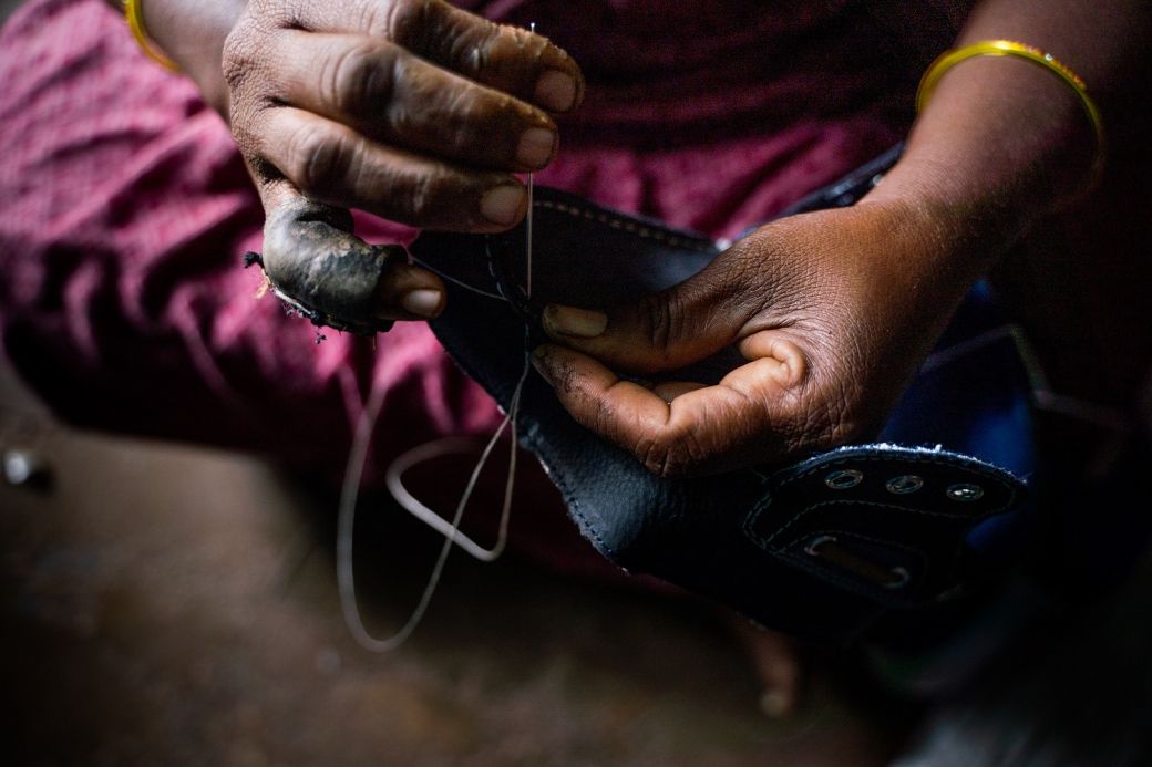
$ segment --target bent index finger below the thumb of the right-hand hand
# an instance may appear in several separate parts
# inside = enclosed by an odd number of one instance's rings
[[[661,477],[768,461],[794,442],[793,397],[781,386],[781,363],[771,357],[737,367],[714,386],[675,382],[653,389],[554,344],[533,351],[533,364],[577,423]],[[669,393],[670,401],[661,396]]]

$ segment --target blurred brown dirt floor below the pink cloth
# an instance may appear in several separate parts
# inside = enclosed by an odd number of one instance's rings
[[[74,432],[8,372],[0,449],[54,476],[0,483],[7,764],[846,766],[885,764],[899,731],[825,670],[770,720],[712,610],[514,560],[450,560],[411,641],[373,655],[342,622],[329,492]],[[357,529],[378,632],[434,554],[381,504]]]

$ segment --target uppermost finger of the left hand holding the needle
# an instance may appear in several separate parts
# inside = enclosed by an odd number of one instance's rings
[[[287,23],[313,32],[384,37],[469,79],[551,112],[569,112],[583,98],[579,67],[547,38],[493,23],[444,0],[346,0],[295,6]]]

